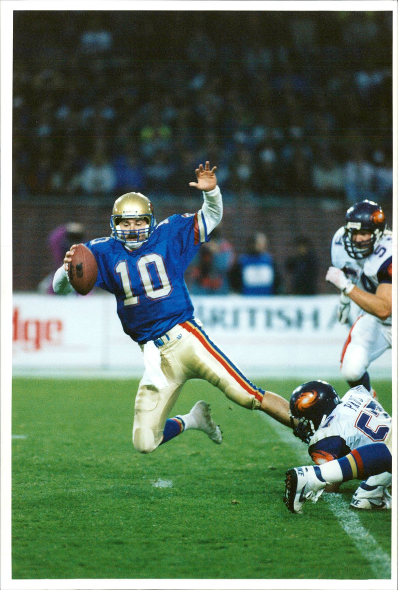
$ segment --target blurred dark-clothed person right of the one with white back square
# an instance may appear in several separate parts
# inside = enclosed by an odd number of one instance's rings
[[[306,235],[294,241],[296,253],[286,260],[285,268],[291,274],[290,295],[315,295],[319,263],[315,250]]]

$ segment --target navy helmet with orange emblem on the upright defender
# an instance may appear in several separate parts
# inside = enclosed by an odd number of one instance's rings
[[[373,253],[374,245],[381,240],[386,229],[386,217],[382,208],[373,201],[360,201],[350,207],[346,213],[343,243],[351,258],[361,260]],[[367,231],[369,240],[354,240],[354,232]]]

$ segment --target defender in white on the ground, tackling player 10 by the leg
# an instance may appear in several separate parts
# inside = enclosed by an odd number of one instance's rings
[[[290,415],[299,420],[293,432],[309,445],[316,465],[346,457],[364,445],[386,442],[391,418],[366,388],[358,385],[339,398],[326,381],[303,383],[290,397]],[[389,509],[391,473],[368,477],[351,500],[351,507],[372,510]],[[337,491],[340,484],[327,486]]]

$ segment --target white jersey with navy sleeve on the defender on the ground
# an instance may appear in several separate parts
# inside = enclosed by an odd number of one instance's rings
[[[382,405],[363,385],[357,385],[347,391],[341,404],[320,425],[310,440],[309,452],[316,463],[321,463],[321,455],[325,460],[341,455],[344,443],[348,450],[343,454],[347,454],[361,445],[383,442],[390,427],[391,418]]]

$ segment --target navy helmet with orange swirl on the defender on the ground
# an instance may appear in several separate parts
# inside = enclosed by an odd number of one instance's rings
[[[289,414],[293,434],[308,444],[324,419],[340,404],[336,390],[326,381],[307,381],[290,396]],[[299,420],[293,426],[293,418]]]

